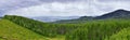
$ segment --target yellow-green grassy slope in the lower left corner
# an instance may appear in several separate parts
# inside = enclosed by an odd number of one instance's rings
[[[8,19],[0,19],[0,40],[46,40],[42,36]]]

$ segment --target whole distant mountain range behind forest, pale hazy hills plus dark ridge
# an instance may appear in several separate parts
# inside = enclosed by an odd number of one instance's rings
[[[0,17],[2,18],[2,17]],[[30,17],[32,19],[41,21],[41,22],[53,22],[53,23],[79,23],[94,19],[108,19],[108,18],[130,18],[130,11],[127,10],[116,10],[114,12],[109,12],[103,14],[101,16],[37,16]]]

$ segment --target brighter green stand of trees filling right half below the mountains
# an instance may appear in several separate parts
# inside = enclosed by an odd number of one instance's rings
[[[84,27],[68,34],[67,40],[104,40],[123,28],[130,27],[129,19],[107,19],[88,22]],[[127,31],[127,30],[125,30]]]

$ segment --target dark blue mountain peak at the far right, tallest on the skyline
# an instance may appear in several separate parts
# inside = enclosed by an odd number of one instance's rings
[[[117,11],[104,14],[102,16],[98,16],[95,18],[105,19],[105,18],[129,18],[129,17],[130,17],[130,11],[117,10]]]

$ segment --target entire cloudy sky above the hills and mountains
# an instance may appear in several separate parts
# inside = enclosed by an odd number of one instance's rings
[[[0,15],[98,16],[118,9],[130,11],[130,0],[0,0]]]

